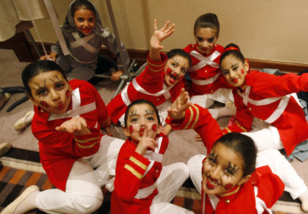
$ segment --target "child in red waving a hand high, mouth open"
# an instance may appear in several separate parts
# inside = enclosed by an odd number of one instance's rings
[[[125,110],[136,99],[147,99],[158,106],[159,115],[164,121],[168,115],[166,108],[171,104],[167,100],[175,101],[181,88],[184,87],[181,79],[191,64],[188,53],[182,49],[172,49],[167,55],[159,51],[164,48],[161,45],[162,41],[174,32],[175,25],[170,27],[168,25],[169,21],[158,30],[156,20],[154,20],[154,34],[150,40],[150,53],[146,59],[146,68],[107,105],[114,124],[120,121],[121,126],[124,126]],[[168,132],[167,128],[165,130]]]

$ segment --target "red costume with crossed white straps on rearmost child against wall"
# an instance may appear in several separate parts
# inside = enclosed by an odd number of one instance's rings
[[[188,71],[192,79],[189,91],[191,97],[211,94],[217,91],[218,88],[231,88],[224,81],[219,68],[220,56],[224,47],[214,45],[211,53],[207,54],[207,56],[198,51],[196,44],[188,45],[183,50],[190,53],[190,58],[192,58],[192,66]]]

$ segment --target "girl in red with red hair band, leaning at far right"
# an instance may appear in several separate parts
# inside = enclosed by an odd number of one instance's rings
[[[290,155],[294,147],[308,138],[308,125],[295,93],[308,91],[308,74],[287,73],[282,76],[251,71],[237,45],[230,44],[220,58],[220,68],[233,90],[236,106],[235,123],[227,132],[249,132],[259,128],[260,121],[268,128],[247,133],[253,136],[258,151],[285,148]],[[293,93],[293,94],[292,94]],[[271,137],[267,137],[270,134]],[[259,140],[255,139],[259,136]]]

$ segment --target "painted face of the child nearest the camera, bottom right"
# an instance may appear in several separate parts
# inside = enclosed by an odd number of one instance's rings
[[[216,144],[203,163],[202,188],[209,195],[225,193],[246,182],[242,178],[243,160],[240,154],[222,143]]]

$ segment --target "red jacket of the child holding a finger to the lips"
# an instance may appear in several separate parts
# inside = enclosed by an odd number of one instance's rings
[[[137,145],[125,141],[116,162],[116,178],[112,193],[112,213],[150,213],[157,195],[156,181],[162,171],[162,157],[168,147],[168,137],[157,136],[155,152],[148,150],[143,156],[135,152]]]

